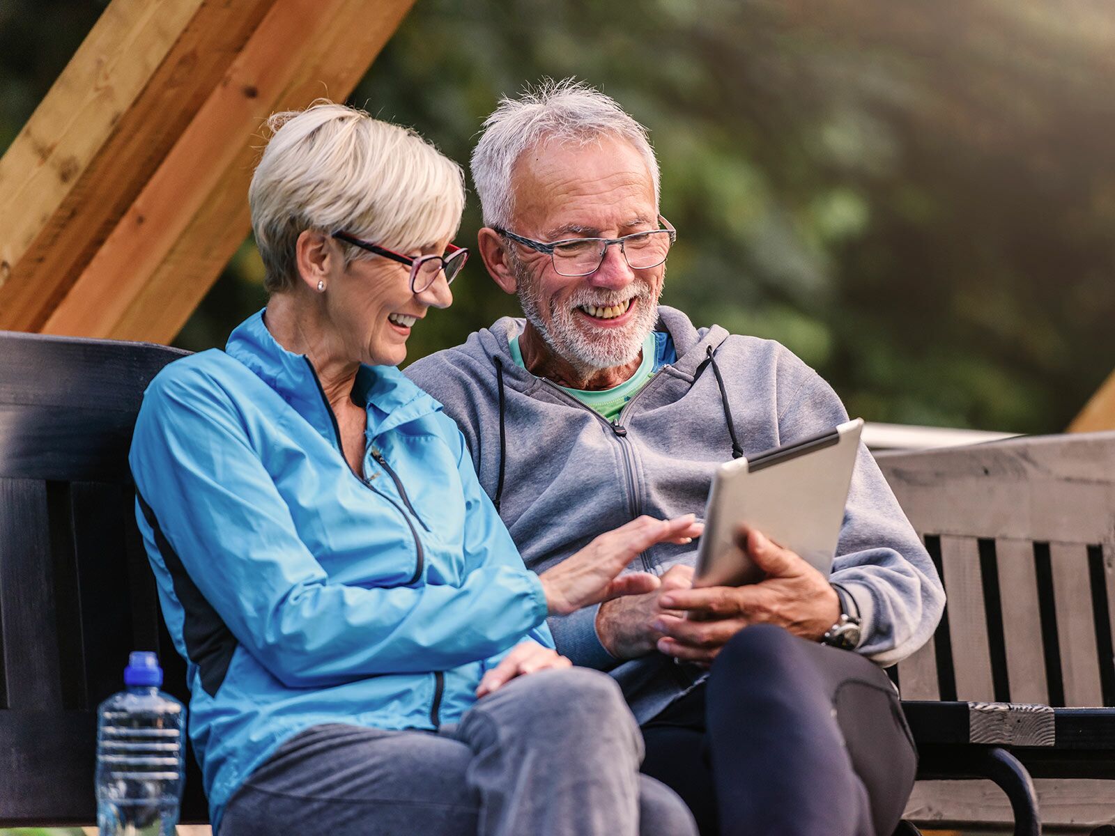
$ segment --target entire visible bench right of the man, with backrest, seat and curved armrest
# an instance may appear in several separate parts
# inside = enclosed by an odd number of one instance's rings
[[[919,781],[906,818],[1014,817],[1016,833],[1038,833],[1036,801],[1058,833],[1112,825],[1115,432],[878,460],[949,597],[933,640],[894,674],[919,775],[938,779]],[[991,775],[1009,799],[986,781],[939,780]]]

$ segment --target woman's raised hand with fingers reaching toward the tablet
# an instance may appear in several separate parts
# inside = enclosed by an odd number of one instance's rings
[[[658,589],[659,580],[646,572],[622,572],[640,552],[656,543],[689,543],[704,525],[692,514],[675,519],[641,516],[601,534],[580,552],[566,557],[539,579],[546,593],[551,615],[564,615],[582,606],[620,595],[641,595]]]

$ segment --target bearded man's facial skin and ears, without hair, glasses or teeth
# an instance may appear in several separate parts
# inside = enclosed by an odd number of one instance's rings
[[[657,229],[651,174],[626,139],[588,145],[546,143],[512,172],[515,213],[511,229],[526,237],[620,237]],[[513,249],[512,249],[513,247]],[[489,227],[479,234],[481,256],[496,282],[520,293],[527,323],[518,346],[526,368],[562,386],[610,389],[636,372],[642,341],[657,322],[666,266],[632,270],[618,246],[586,276],[563,276],[550,255],[504,246]],[[634,299],[619,327],[592,322],[579,305],[610,307]]]

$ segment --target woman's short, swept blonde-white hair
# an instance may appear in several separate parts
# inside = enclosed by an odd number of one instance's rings
[[[327,99],[274,114],[264,128],[270,139],[248,202],[271,293],[294,286],[295,244],[306,230],[343,230],[407,252],[449,237],[460,225],[460,166],[414,130]],[[346,263],[376,257],[341,246]]]

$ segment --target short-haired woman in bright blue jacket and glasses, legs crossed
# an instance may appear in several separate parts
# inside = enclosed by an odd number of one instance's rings
[[[545,618],[653,589],[620,572],[698,527],[640,518],[525,570],[459,430],[395,368],[466,257],[460,169],[330,103],[270,125],[266,308],[155,378],[130,457],[214,826],[694,833]]]

